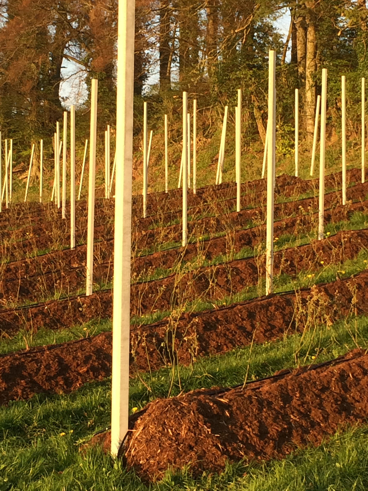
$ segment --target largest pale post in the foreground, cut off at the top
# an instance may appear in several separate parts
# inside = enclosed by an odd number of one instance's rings
[[[134,2],[119,1],[111,454],[128,432],[131,289],[131,174],[133,135]]]

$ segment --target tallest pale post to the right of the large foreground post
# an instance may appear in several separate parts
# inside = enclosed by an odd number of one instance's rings
[[[268,151],[266,223],[266,295],[273,292],[273,209],[276,153],[276,53],[268,54]]]

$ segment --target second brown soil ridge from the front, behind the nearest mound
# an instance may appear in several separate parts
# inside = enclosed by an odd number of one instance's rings
[[[252,339],[255,343],[272,341],[287,332],[302,330],[311,322],[334,322],[355,309],[357,315],[367,313],[367,295],[368,271],[365,271],[297,293],[271,295],[197,314],[186,313],[179,319],[173,317],[152,325],[131,327],[131,374],[137,370],[157,370],[174,361],[188,364],[193,357],[224,353],[249,345]],[[102,305],[103,299],[99,300]],[[106,295],[104,301],[111,309],[111,297],[108,299]],[[91,315],[91,308],[94,309],[91,317],[96,317],[97,302],[96,294],[81,298],[79,308],[61,301],[61,309],[55,314],[48,312],[46,304],[44,324],[60,327],[66,319],[68,325],[75,325],[84,320],[83,310]],[[111,332],[0,355],[0,403],[27,399],[43,391],[74,390],[82,383],[101,380],[110,370]]]

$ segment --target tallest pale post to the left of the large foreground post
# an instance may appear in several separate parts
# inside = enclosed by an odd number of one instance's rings
[[[96,181],[96,140],[97,140],[97,90],[98,81],[91,83],[91,123],[89,141],[89,180],[88,180],[88,222],[87,222],[87,262],[86,292],[92,295],[93,287],[93,236],[95,221],[95,181]]]

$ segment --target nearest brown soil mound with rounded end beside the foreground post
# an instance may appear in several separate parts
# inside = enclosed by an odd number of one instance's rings
[[[245,389],[158,399],[142,412],[131,422],[125,461],[144,480],[162,478],[169,466],[189,465],[198,476],[222,471],[227,460],[279,459],[367,421],[368,355],[356,349]]]

